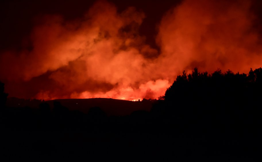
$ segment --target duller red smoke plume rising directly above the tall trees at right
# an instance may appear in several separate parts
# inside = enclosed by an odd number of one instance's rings
[[[162,65],[173,67],[165,68],[167,74],[260,67],[262,48],[250,8],[251,1],[188,0],[168,11],[157,40]]]

